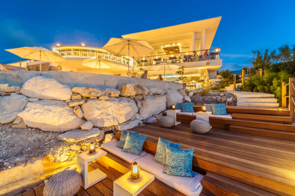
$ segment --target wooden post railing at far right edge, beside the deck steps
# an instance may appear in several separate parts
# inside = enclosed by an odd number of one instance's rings
[[[287,95],[287,86],[289,86],[289,95]],[[289,98],[289,111],[292,123],[294,123],[295,116],[295,77],[289,78],[289,83],[282,82],[282,108],[287,107],[287,98]]]

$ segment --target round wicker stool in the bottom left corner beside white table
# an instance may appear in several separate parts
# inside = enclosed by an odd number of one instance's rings
[[[65,170],[54,174],[43,189],[43,196],[74,196],[82,183],[81,174],[75,170]]]

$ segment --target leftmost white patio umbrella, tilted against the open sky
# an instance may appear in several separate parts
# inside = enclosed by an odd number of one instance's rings
[[[22,47],[16,49],[5,49],[15,55],[22,58],[32,59],[40,61],[40,71],[41,71],[41,61],[46,62],[58,62],[65,61],[66,59],[60,56],[58,53],[51,51],[49,49],[44,49],[42,47]]]

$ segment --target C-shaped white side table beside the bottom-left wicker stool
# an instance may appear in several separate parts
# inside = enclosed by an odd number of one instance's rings
[[[107,177],[107,174],[99,169],[88,172],[88,162],[105,155],[107,155],[107,152],[100,148],[95,148],[94,154],[89,154],[87,151],[77,155],[77,171],[82,175],[82,187],[84,189],[89,188]]]

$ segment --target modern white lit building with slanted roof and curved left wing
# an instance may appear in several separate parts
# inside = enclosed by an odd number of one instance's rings
[[[220,48],[211,49],[216,30],[221,17],[185,23],[181,25],[168,26],[138,33],[122,35],[123,38],[146,40],[153,48],[145,56],[130,57],[129,65],[131,75],[139,76],[148,71],[148,77],[156,78],[164,74],[163,69],[158,66],[166,65],[165,79],[175,80],[179,77],[177,68],[183,68],[182,76],[187,80],[207,81],[216,77],[216,71],[222,66]],[[128,56],[115,56],[114,54],[97,47],[89,46],[56,46],[53,51],[65,57],[66,61],[48,63],[42,62],[42,71],[61,70],[73,72],[98,73],[97,68],[82,65],[87,58],[103,58],[115,62],[116,66],[111,69],[101,69],[103,74],[127,75]],[[24,61],[21,62],[23,67]],[[13,64],[13,63],[12,63]],[[10,65],[12,65],[10,64]],[[15,65],[20,64],[15,63]],[[168,65],[174,65],[169,69]],[[14,65],[14,64],[13,64]],[[38,70],[39,61],[26,62],[29,70]],[[188,82],[188,81],[186,81]]]

